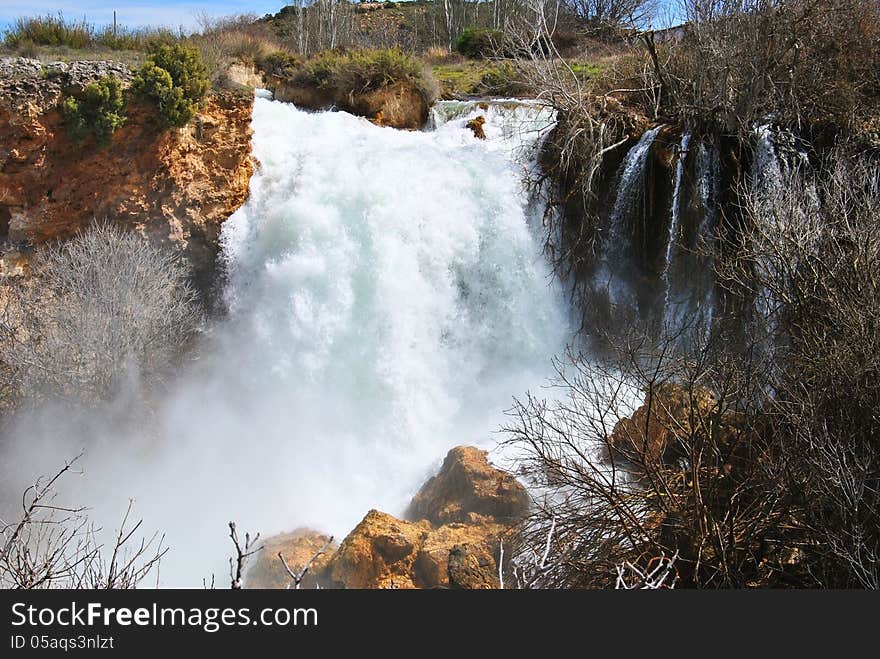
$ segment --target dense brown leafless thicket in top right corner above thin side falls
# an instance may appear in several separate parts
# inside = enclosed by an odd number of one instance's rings
[[[858,0],[684,0],[687,36],[645,43],[671,115],[745,135],[876,115],[880,7]]]

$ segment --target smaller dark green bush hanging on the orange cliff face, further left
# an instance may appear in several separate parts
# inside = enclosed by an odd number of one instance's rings
[[[83,144],[91,135],[95,144],[106,145],[125,123],[122,85],[113,76],[104,76],[87,85],[81,99],[66,96],[61,102],[61,113],[73,142]]]

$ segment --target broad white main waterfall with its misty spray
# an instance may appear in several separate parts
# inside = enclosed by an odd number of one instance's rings
[[[222,234],[229,316],[158,429],[90,428],[65,492],[108,529],[133,498],[171,547],[163,584],[222,584],[229,520],[341,538],[371,508],[402,514],[451,447],[495,446],[513,397],[552,374],[573,323],[522,181],[553,113],[448,109],[408,132],[256,99],[259,167]],[[478,115],[485,141],[465,127]],[[46,437],[69,447],[58,426]],[[27,433],[42,471],[67,456]]]

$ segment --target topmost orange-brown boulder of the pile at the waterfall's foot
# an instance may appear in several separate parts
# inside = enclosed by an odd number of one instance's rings
[[[528,512],[529,496],[511,474],[491,466],[486,451],[458,446],[413,497],[405,517],[432,524],[474,522],[486,517],[512,525]]]

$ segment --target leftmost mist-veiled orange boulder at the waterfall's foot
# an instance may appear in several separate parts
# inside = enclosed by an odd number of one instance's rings
[[[280,552],[290,569],[297,574],[309,561],[312,561],[300,588],[314,588],[319,585],[319,575],[322,574],[336,551],[335,543],[331,543],[327,547],[329,540],[330,536],[306,528],[296,529],[291,533],[282,533],[267,539],[245,575],[245,586],[247,588],[293,588],[293,579],[287,574],[287,570],[284,569],[284,565],[278,558]],[[326,551],[318,555],[324,547],[327,547]]]

